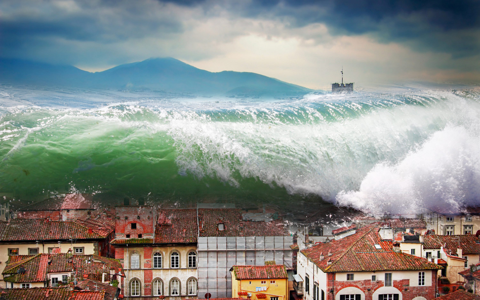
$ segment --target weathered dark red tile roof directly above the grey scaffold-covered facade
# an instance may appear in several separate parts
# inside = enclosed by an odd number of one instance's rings
[[[198,209],[200,236],[285,236],[288,235],[282,220],[268,223],[243,220],[239,208]],[[223,230],[218,225],[223,224]]]

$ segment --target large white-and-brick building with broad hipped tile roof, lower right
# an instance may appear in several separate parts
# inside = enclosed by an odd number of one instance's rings
[[[379,224],[300,251],[297,273],[305,300],[425,300],[436,293],[436,264],[382,239]]]

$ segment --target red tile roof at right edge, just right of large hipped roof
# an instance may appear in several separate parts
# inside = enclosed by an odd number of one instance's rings
[[[457,248],[462,249],[463,254],[480,254],[480,239],[471,234],[423,236],[424,249],[440,249],[441,246],[452,250],[452,254],[457,253]]]

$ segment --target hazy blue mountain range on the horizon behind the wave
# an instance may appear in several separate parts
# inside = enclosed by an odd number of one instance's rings
[[[85,89],[149,89],[223,96],[296,96],[310,90],[250,72],[209,72],[174,58],[151,58],[90,73],[73,66],[0,59],[0,82]]]

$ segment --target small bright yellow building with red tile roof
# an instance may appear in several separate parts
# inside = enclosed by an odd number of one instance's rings
[[[266,266],[231,267],[232,297],[288,300],[287,268],[269,262],[265,264]]]

